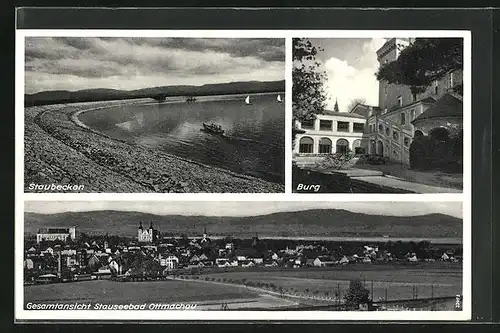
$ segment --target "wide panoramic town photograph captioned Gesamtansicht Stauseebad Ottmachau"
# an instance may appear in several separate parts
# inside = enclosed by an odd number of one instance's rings
[[[26,201],[23,313],[445,319],[470,302],[463,232],[459,201]]]

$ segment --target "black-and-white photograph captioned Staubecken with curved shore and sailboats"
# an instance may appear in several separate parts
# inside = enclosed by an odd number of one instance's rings
[[[27,193],[282,193],[285,39],[24,38]]]

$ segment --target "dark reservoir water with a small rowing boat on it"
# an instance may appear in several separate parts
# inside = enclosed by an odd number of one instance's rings
[[[278,93],[169,97],[165,102],[125,105],[80,114],[87,126],[112,138],[196,162],[284,183],[285,103]],[[283,98],[284,94],[280,93]],[[226,137],[201,131],[216,123]]]

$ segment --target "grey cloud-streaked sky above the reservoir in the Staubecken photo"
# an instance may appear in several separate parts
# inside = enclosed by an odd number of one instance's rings
[[[27,37],[25,90],[132,90],[285,78],[285,40]]]

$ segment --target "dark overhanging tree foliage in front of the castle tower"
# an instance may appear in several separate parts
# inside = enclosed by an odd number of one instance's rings
[[[376,75],[379,81],[409,86],[417,94],[448,71],[462,68],[462,38],[417,38]]]

